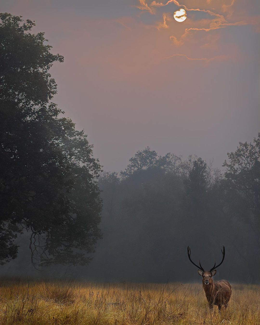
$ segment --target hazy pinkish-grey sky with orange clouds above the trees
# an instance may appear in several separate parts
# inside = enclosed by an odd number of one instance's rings
[[[137,150],[196,154],[221,168],[259,129],[258,0],[0,0],[35,20],[63,63],[53,102],[106,171]],[[187,11],[177,22],[173,13]]]

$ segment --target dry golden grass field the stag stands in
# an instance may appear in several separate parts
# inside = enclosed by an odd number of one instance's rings
[[[2,282],[0,324],[260,324],[260,287],[232,285],[209,313],[201,284]]]

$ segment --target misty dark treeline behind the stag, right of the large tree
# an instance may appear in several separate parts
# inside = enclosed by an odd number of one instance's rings
[[[224,175],[201,158],[137,151],[126,169],[99,179],[104,239],[88,274],[104,280],[198,280],[187,257],[217,277],[259,281],[260,135],[227,154]],[[220,274],[220,275],[219,275]]]

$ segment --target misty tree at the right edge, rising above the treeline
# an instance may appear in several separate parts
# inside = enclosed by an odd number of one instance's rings
[[[228,236],[237,260],[243,261],[242,270],[246,270],[250,282],[255,282],[259,274],[252,270],[260,268],[260,133],[253,143],[240,142],[227,158],[222,181],[224,211],[236,229]]]

